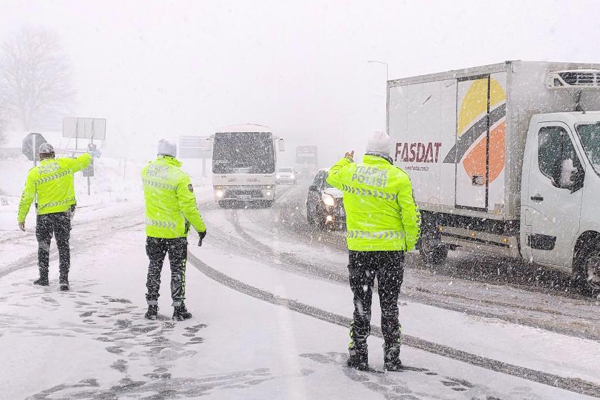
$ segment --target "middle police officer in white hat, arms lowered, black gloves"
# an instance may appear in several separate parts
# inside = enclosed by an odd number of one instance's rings
[[[156,319],[158,314],[161,269],[167,253],[171,264],[173,319],[183,321],[191,318],[184,304],[189,226],[194,226],[198,232],[199,246],[206,236],[206,226],[196,207],[194,188],[189,176],[181,171],[181,162],[175,158],[176,153],[173,141],[161,139],[158,158],[141,171],[146,200],[146,254],[150,259],[146,279],[147,319]]]

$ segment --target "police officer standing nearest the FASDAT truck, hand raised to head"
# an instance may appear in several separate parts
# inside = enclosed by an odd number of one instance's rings
[[[401,326],[398,296],[404,254],[419,239],[420,215],[408,174],[394,166],[391,141],[375,131],[361,164],[354,151],[329,170],[327,182],[344,193],[350,286],[354,293],[348,366],[369,369],[366,339],[371,333],[371,299],[377,277],[384,334],[384,367],[399,371]]]

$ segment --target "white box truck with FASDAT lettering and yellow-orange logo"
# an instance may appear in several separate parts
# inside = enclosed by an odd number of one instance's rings
[[[600,291],[600,64],[506,61],[387,86],[427,261],[466,247]]]

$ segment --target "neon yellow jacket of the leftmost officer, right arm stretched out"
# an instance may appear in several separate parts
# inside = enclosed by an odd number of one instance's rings
[[[73,174],[91,163],[91,155],[82,154],[76,159],[59,158],[41,160],[39,166],[29,170],[25,189],[19,202],[16,219],[24,222],[31,203],[37,198],[37,214],[51,214],[69,210],[75,204]]]

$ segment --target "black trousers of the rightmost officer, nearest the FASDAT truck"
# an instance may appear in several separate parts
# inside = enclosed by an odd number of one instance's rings
[[[354,321],[350,328],[353,351],[366,353],[366,338],[371,334],[371,301],[377,278],[381,305],[381,331],[386,349],[399,347],[398,296],[404,276],[403,251],[350,251],[350,287],[354,294]]]

